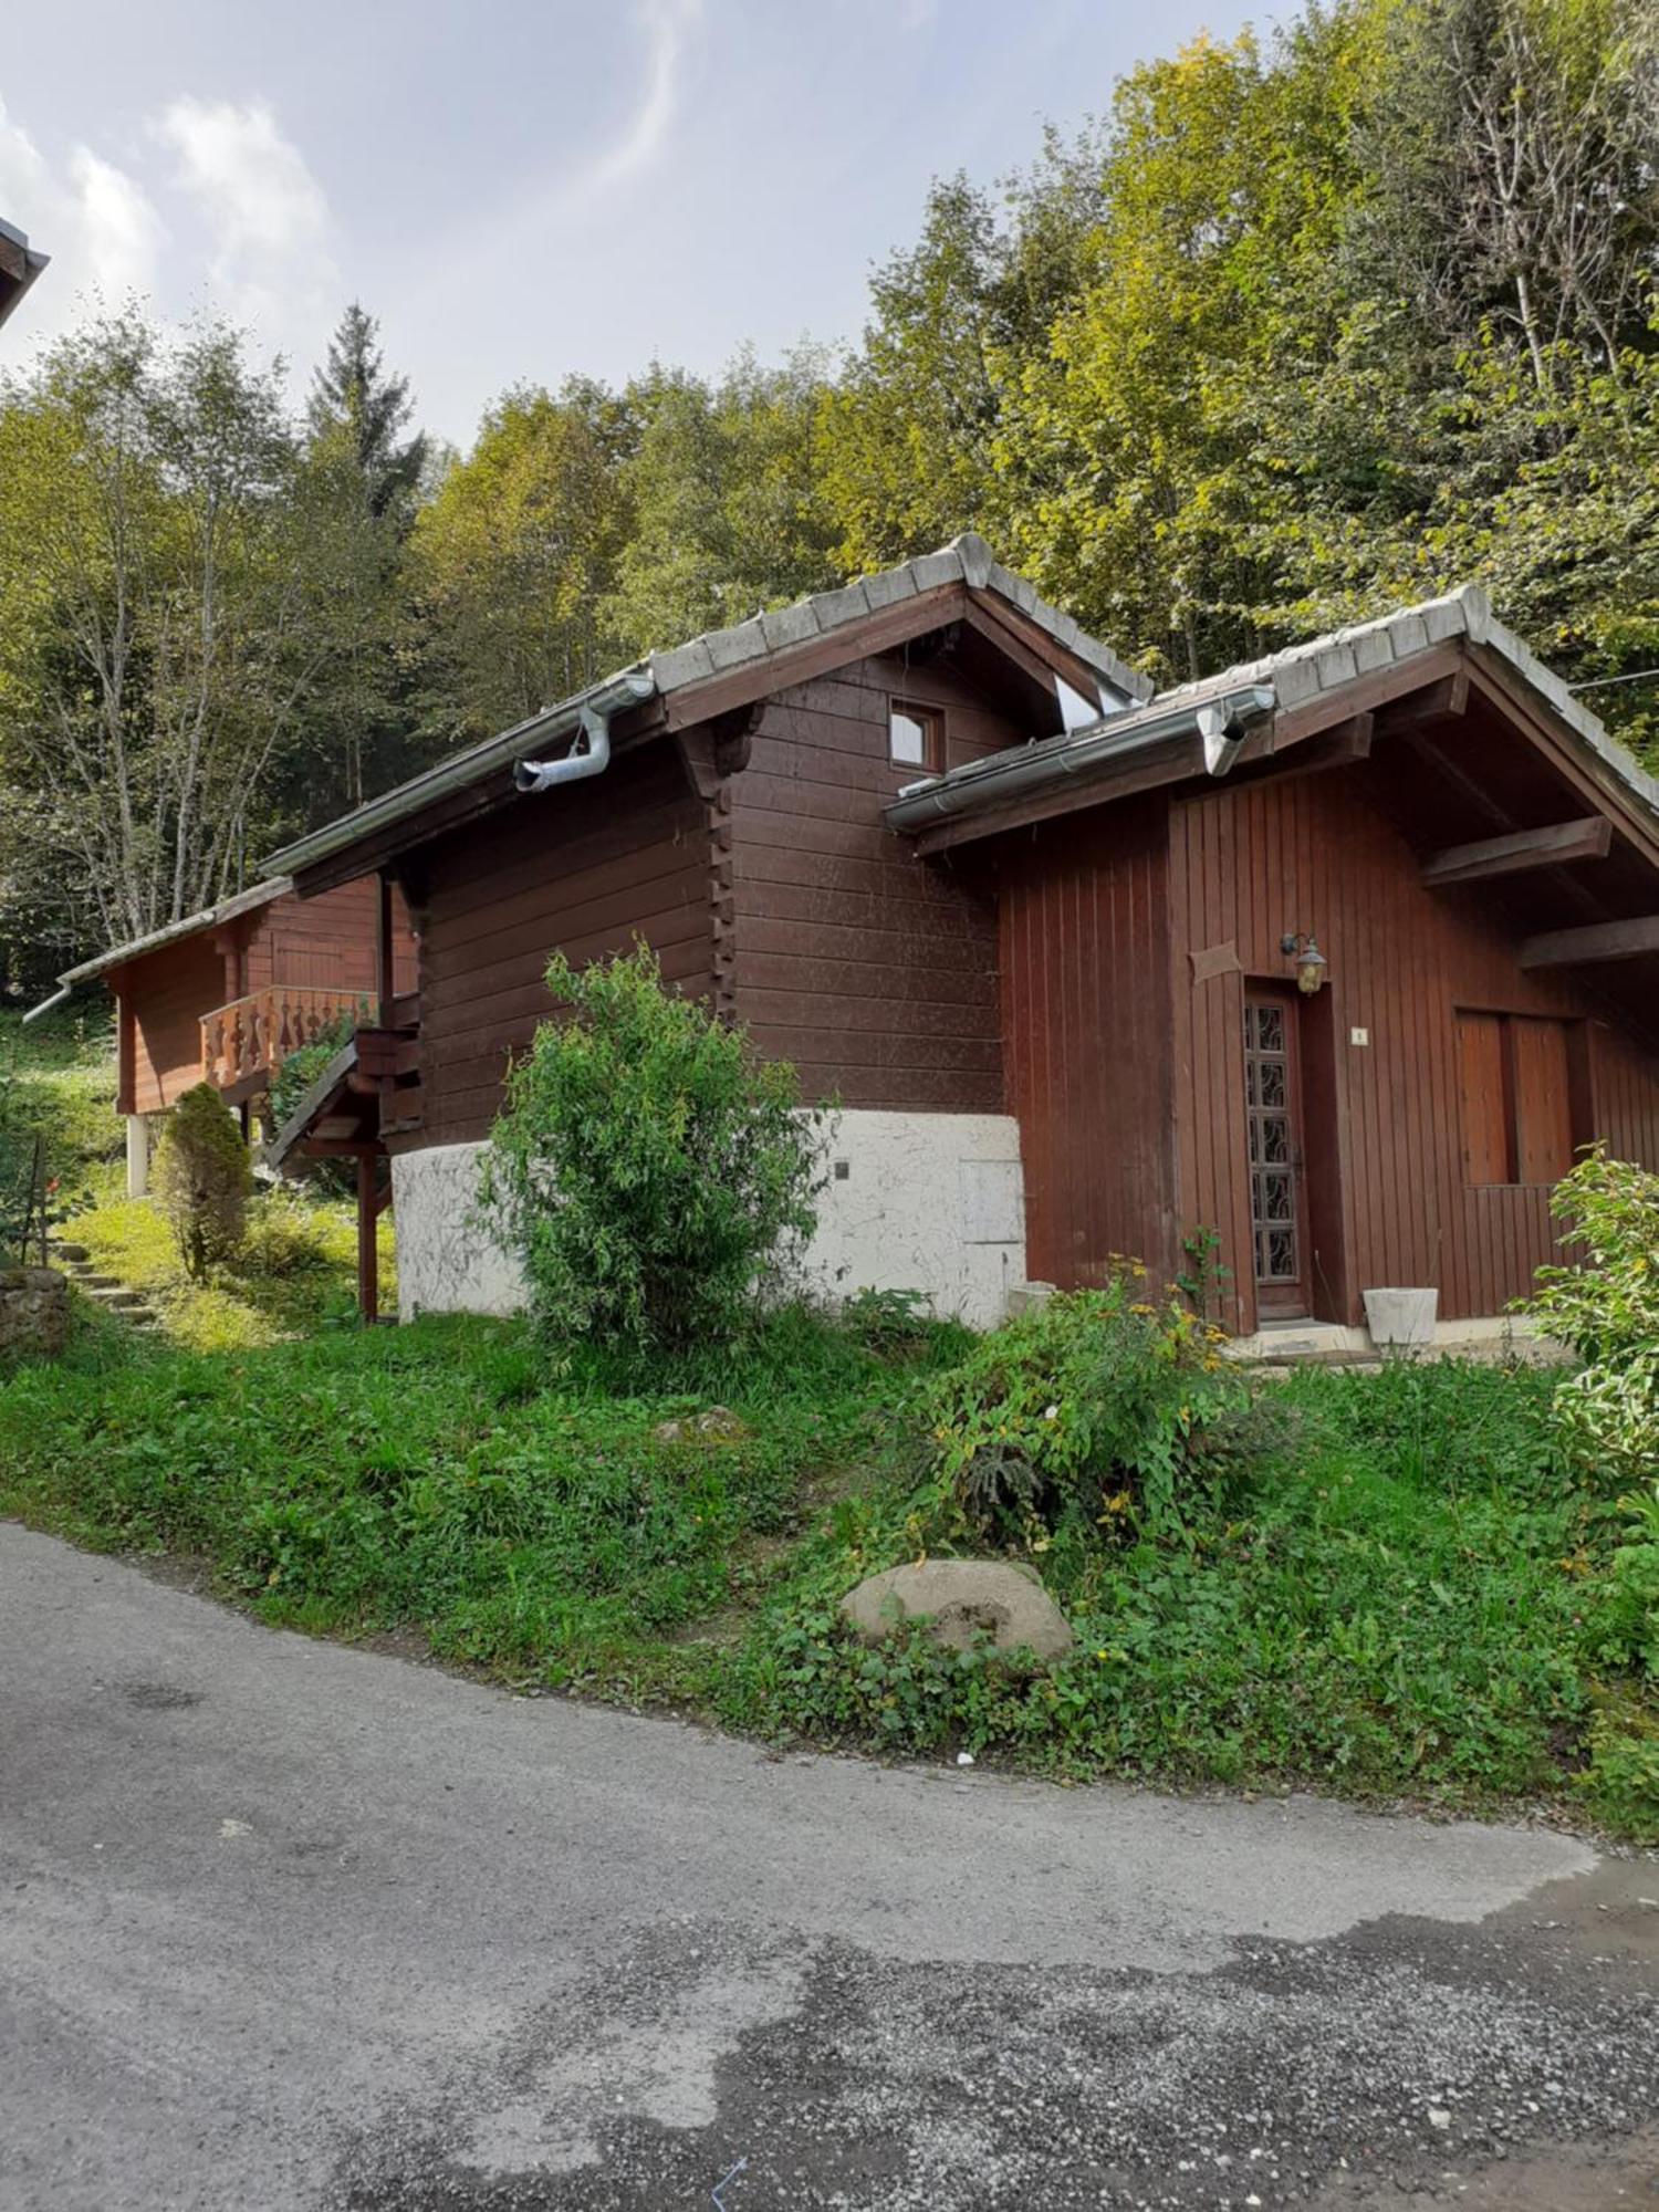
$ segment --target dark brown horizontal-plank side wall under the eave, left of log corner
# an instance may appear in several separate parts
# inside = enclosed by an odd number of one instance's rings
[[[420,911],[416,1144],[484,1137],[509,1057],[551,1011],[555,951],[595,960],[635,936],[681,991],[712,987],[708,810],[672,745],[591,783],[518,799],[411,863]]]

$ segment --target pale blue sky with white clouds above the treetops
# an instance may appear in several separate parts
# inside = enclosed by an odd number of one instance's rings
[[[467,447],[515,383],[858,336],[929,179],[991,184],[1241,0],[58,0],[0,40],[0,217],[91,301],[228,314],[296,389],[349,299]]]

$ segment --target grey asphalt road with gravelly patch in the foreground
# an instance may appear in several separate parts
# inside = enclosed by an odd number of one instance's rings
[[[768,1759],[0,1524],[4,2212],[1635,2212],[1657,1991],[1652,1858]]]

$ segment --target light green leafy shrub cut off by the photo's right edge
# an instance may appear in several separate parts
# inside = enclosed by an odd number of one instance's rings
[[[1579,1267],[1540,1267],[1531,1314],[1584,1363],[1555,1394],[1562,1436],[1606,1484],[1659,1469],[1659,1175],[1597,1146],[1551,1194]]]

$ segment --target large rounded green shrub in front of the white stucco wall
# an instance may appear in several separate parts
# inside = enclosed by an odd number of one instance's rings
[[[794,1068],[664,989],[650,947],[546,984],[562,1011],[507,1079],[480,1192],[555,1336],[730,1338],[814,1223],[818,1137]]]

